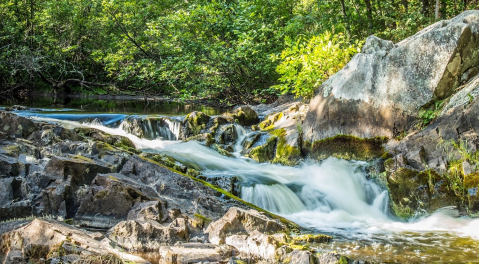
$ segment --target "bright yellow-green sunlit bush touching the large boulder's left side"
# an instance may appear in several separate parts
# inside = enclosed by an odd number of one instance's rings
[[[276,71],[281,74],[282,84],[273,86],[283,94],[294,93],[297,97],[310,98],[314,90],[348,63],[360,51],[361,44],[349,43],[343,34],[325,32],[305,41],[302,37],[293,41],[286,38],[286,49]]]

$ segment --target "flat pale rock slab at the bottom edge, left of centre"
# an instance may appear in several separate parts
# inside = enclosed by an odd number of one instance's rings
[[[227,263],[235,256],[234,248],[228,245],[186,243],[180,246],[160,248],[160,264]]]

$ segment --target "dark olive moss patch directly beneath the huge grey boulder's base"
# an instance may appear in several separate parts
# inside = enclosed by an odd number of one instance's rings
[[[330,156],[348,160],[373,160],[385,153],[382,144],[386,141],[386,137],[358,138],[351,135],[336,135],[315,141],[310,148],[305,144],[304,149],[311,158],[317,160]]]

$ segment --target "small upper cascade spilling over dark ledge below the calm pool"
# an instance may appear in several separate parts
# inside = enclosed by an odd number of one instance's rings
[[[167,117],[129,116],[119,128],[140,138],[178,140],[181,122]]]

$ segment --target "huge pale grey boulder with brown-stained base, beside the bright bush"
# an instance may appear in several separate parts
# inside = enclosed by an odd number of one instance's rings
[[[375,36],[316,91],[304,139],[361,138],[407,130],[418,110],[479,72],[479,11],[437,22],[397,44]]]

